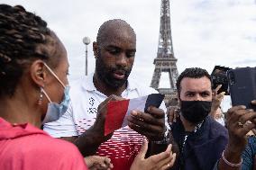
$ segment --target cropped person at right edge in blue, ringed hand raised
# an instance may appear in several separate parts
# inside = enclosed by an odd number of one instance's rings
[[[256,106],[256,100],[251,104]],[[229,142],[215,170],[255,169],[255,136],[247,139],[246,134],[256,128],[256,112],[243,105],[233,106],[227,112]],[[247,122],[251,123],[247,123]]]

